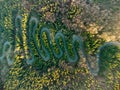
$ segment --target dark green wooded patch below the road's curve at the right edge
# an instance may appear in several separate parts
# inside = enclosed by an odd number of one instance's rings
[[[108,52],[109,51],[109,52]],[[105,46],[100,53],[100,75],[104,75],[105,72],[116,69],[120,69],[120,47],[115,45]]]

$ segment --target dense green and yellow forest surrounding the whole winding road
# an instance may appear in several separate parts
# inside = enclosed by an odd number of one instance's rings
[[[114,2],[114,3],[113,3]],[[108,5],[109,4],[109,5]],[[110,6],[115,4],[115,6]],[[107,6],[108,5],[108,6]],[[50,53],[47,62],[39,57],[29,29],[37,18],[36,40],[39,43],[39,30],[43,26],[51,30],[52,43],[58,51],[54,35],[62,32],[67,40],[70,55],[73,55],[72,35],[81,36],[85,52],[91,63],[96,64],[98,48],[109,38],[102,37],[104,32],[113,31],[111,24],[114,13],[119,11],[119,0],[4,0],[0,1],[0,87],[5,90],[118,90],[120,86],[120,47],[108,46],[100,53],[100,71],[93,76],[81,52],[76,63],[70,63],[66,55],[56,59]],[[111,8],[111,9],[110,9]],[[16,24],[16,16],[21,15],[22,21]],[[16,27],[17,26],[17,27]],[[21,35],[16,34],[17,29]],[[19,31],[18,31],[19,32]],[[115,31],[113,31],[115,32]],[[28,38],[29,37],[29,38]],[[50,51],[46,34],[42,36],[46,48]],[[112,38],[110,38],[112,39]],[[12,45],[10,53],[3,52],[4,43]],[[119,40],[115,40],[118,41]],[[28,44],[30,43],[30,44]],[[62,46],[61,40],[59,40]],[[77,44],[76,44],[77,47]],[[6,48],[5,51],[8,51]],[[63,48],[63,46],[62,46]],[[7,56],[14,60],[13,65],[7,62]],[[26,63],[34,55],[32,65]],[[93,65],[94,68],[95,65]]]

